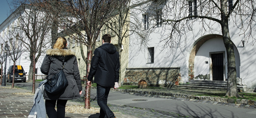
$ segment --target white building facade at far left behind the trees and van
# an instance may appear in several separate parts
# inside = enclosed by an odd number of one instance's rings
[[[18,9],[20,9],[20,7]],[[27,48],[24,47],[24,45],[21,41],[17,40],[15,38],[15,36],[13,36],[13,34],[11,34],[11,32],[15,32],[14,30],[17,30],[17,29],[15,29],[15,27],[17,27],[17,25],[20,24],[19,17],[28,18],[25,16],[26,14],[20,15],[19,12],[20,12],[19,10],[14,11],[6,20],[4,20],[3,23],[1,23],[1,25],[0,25],[1,39],[0,40],[1,40],[1,45],[3,45],[3,47],[6,44],[8,44],[9,46],[16,45],[15,42],[19,42],[19,43],[17,43],[17,44],[19,44],[17,46],[22,47],[22,49],[19,49],[22,52],[22,54],[21,54],[20,58],[18,58],[18,60],[16,60],[15,65],[21,65],[23,67],[24,71],[27,72],[26,79],[28,80],[29,68],[30,68],[30,63],[31,63],[30,58],[29,58],[30,52],[27,50]],[[28,10],[28,12],[29,12],[29,10]],[[38,16],[40,17],[40,15],[38,15]],[[43,16],[43,14],[41,16]],[[18,35],[20,37],[24,38],[23,41],[28,41],[27,40],[28,38],[24,34],[24,32],[21,31]],[[40,34],[38,34],[38,35],[40,35]],[[10,38],[12,40],[10,40]],[[44,60],[45,49],[50,47],[50,44],[47,43],[47,42],[50,42],[50,41],[48,41],[48,40],[50,40],[50,32],[48,32],[48,34],[46,34],[46,36],[44,38],[45,38],[45,43],[44,43],[45,45],[43,44],[44,45],[42,48],[43,51],[41,51],[41,56],[39,57],[39,59],[36,63],[36,66],[35,66],[35,68],[37,70],[36,71],[36,79],[42,79],[42,77],[46,77],[46,75],[41,73],[40,67]],[[29,42],[26,42],[26,43],[29,43]],[[6,53],[4,49],[3,49],[3,51],[4,51],[4,53]],[[12,51],[10,51],[10,52],[12,52]],[[36,53],[35,56],[37,56],[37,55],[38,55],[38,52]],[[7,72],[9,67],[13,65],[13,61],[10,56],[11,56],[10,54],[7,55],[6,65],[4,65],[5,63],[3,64],[3,69],[2,69],[3,72],[4,72],[5,66],[6,66],[6,72]]]

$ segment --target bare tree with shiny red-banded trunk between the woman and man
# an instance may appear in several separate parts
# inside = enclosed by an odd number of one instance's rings
[[[53,15],[49,15],[58,22],[59,30],[63,35],[68,35],[72,40],[87,47],[87,55],[80,46],[83,60],[86,63],[86,77],[90,71],[92,49],[100,34],[100,29],[108,20],[114,7],[115,0],[43,0],[45,9]],[[51,4],[54,2],[54,9]],[[58,12],[58,13],[57,13]],[[57,14],[57,15],[56,15]],[[53,17],[54,16],[54,17]],[[55,23],[56,24],[56,23]],[[85,108],[90,108],[90,87],[86,87]]]

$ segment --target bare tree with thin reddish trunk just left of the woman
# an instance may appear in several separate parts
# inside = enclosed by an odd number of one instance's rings
[[[46,17],[43,9],[38,9],[42,7],[41,4],[31,0],[18,0],[16,3],[20,5],[15,11],[19,22],[16,29],[19,29],[25,36],[20,41],[29,52],[31,63],[28,81],[33,81],[32,92],[35,93],[35,64],[47,45],[49,46],[50,19]]]

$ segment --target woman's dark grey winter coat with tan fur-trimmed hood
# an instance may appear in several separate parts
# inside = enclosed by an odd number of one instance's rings
[[[59,94],[44,93],[45,100],[71,100],[80,98],[79,91],[82,91],[81,78],[78,70],[76,51],[74,49],[47,49],[46,56],[41,66],[41,72],[45,75],[56,74],[63,65],[63,59],[66,65],[63,69],[68,87]]]

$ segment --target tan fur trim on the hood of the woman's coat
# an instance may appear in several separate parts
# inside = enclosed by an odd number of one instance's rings
[[[47,49],[46,55],[50,56],[68,56],[68,55],[76,55],[76,51],[74,49]]]

